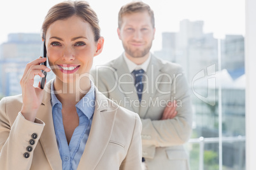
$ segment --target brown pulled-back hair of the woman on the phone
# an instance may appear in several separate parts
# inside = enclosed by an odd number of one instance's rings
[[[41,37],[45,39],[46,30],[53,22],[65,20],[73,15],[79,16],[84,21],[90,23],[94,32],[94,40],[98,41],[99,37],[101,37],[99,20],[95,11],[90,8],[89,3],[86,1],[64,1],[50,8],[41,28]]]

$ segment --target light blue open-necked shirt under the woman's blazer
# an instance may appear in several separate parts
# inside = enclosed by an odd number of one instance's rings
[[[90,127],[92,125],[92,117],[95,108],[94,83],[90,81],[91,86],[89,92],[76,104],[79,125],[76,127],[68,145],[62,121],[62,104],[54,94],[53,82],[54,81],[52,81],[51,85],[52,117],[60,158],[62,160],[62,169],[75,170],[85,150],[85,144],[88,140]]]

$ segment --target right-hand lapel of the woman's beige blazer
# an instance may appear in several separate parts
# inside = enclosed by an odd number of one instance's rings
[[[110,101],[97,88],[95,89],[96,107],[92,119],[92,127],[78,170],[96,168],[110,141],[117,113],[117,108],[111,109],[112,104]]]

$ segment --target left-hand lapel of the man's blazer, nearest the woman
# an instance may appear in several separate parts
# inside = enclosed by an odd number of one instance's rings
[[[117,88],[120,88],[121,93],[123,93],[124,97],[126,97],[125,101],[129,100],[130,102],[132,102],[129,104],[124,103],[124,107],[133,112],[139,113],[139,107],[136,103],[134,103],[134,101],[139,101],[136,88],[134,86],[134,77],[129,72],[127,64],[124,60],[124,56],[119,56],[117,60],[115,60],[115,62],[113,63],[112,67],[117,71],[118,75],[118,80],[116,81],[118,82],[117,86],[119,87]]]

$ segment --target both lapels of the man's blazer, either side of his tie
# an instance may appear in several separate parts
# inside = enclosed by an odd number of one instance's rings
[[[144,82],[144,87],[143,93],[141,100],[141,106],[138,107],[138,105],[131,103],[131,104],[126,104],[124,107],[132,110],[133,112],[136,112],[139,114],[139,117],[144,118],[146,116],[146,112],[148,111],[148,108],[150,107],[151,104],[153,104],[152,101],[153,97],[157,93],[156,86],[159,84],[155,84],[156,81],[159,82],[161,81],[162,77],[158,77],[160,72],[160,69],[162,69],[163,65],[162,63],[159,62],[159,60],[151,54],[151,60],[148,65],[148,69],[146,70],[146,82]],[[129,75],[129,69],[127,67],[127,64],[124,60],[124,56],[121,55],[113,62],[113,65],[111,65],[116,71],[118,75],[118,79],[122,82],[131,82],[131,77]],[[125,76],[126,75],[126,76]],[[116,80],[117,82],[120,82]],[[120,86],[120,89],[124,92],[130,92],[130,93],[125,93],[124,96],[128,98],[130,101],[134,100],[139,100],[138,95],[136,92],[136,89],[134,87],[134,82],[132,83],[118,83],[118,86]],[[132,90],[131,90],[132,89]],[[121,91],[121,93],[122,93]],[[120,97],[122,98],[122,97]],[[124,100],[124,98],[122,98]],[[151,102],[151,103],[150,103]],[[131,107],[130,107],[131,106]]]

